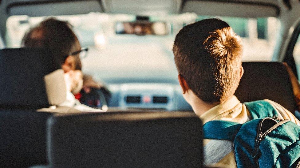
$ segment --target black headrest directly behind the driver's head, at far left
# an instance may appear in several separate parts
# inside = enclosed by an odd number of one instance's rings
[[[57,69],[60,65],[49,50],[0,50],[0,106],[48,106],[44,76]]]

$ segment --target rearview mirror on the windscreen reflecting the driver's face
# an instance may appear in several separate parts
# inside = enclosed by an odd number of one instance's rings
[[[116,34],[168,35],[169,26],[165,22],[117,22]]]

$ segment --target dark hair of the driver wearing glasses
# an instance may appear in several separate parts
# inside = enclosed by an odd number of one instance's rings
[[[78,43],[78,39],[72,30],[72,25],[67,21],[60,21],[54,17],[50,17],[37,26],[30,28],[22,39],[23,47],[45,47],[50,49],[61,64],[65,62],[65,55],[72,52],[72,48],[76,43]],[[79,57],[76,57],[75,60],[75,69],[81,70]]]

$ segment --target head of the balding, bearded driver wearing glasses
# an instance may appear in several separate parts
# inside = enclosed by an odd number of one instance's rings
[[[50,49],[65,72],[67,89],[74,94],[81,90],[83,82],[79,54],[70,54],[80,51],[81,46],[71,24],[53,17],[48,18],[26,33],[22,46]]]

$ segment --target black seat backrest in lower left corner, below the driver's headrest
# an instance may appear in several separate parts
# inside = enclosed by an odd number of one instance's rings
[[[0,167],[47,164],[46,121],[52,113],[0,110]]]

